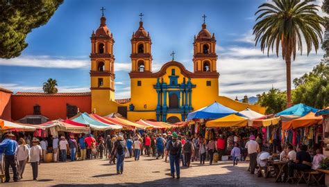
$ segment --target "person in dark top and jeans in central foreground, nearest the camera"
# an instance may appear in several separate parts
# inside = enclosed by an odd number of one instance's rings
[[[167,143],[167,150],[169,151],[169,161],[170,161],[170,175],[175,178],[175,168],[177,179],[180,178],[180,154],[182,152],[182,143],[177,139],[178,135],[176,132],[172,133],[172,139]]]

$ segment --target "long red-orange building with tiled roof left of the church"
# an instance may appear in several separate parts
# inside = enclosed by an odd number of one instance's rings
[[[90,113],[91,108],[90,92],[58,94],[17,92],[11,96],[13,121],[27,115],[42,115],[49,120],[66,119],[78,111]]]

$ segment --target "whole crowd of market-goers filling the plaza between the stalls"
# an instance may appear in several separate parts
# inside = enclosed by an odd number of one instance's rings
[[[178,132],[138,132],[124,131],[108,135],[98,134],[63,134],[52,136],[47,139],[37,139],[31,136],[19,138],[6,134],[5,139],[0,143],[0,155],[4,153],[6,181],[10,180],[9,167],[13,171],[13,180],[23,178],[26,163],[31,163],[33,179],[37,180],[38,165],[46,161],[46,155],[51,153],[53,161],[70,161],[85,159],[103,159],[116,164],[117,174],[124,172],[124,159],[127,157],[140,160],[140,155],[153,157],[154,159],[165,159],[168,161],[171,170],[171,177],[180,178],[180,166],[191,166],[192,161],[199,161],[201,165],[208,160],[212,165],[213,161],[220,161],[224,155],[230,155],[233,166],[238,161],[250,160],[248,170],[255,174],[256,168],[266,166],[269,157],[278,157],[280,160],[289,160],[285,177],[293,179],[294,170],[305,168],[316,168],[324,158],[317,150],[317,155],[311,161],[310,154],[306,152],[307,146],[301,145],[294,150],[291,144],[285,145],[284,149],[264,146],[260,141],[260,135],[251,134],[248,138],[238,133],[212,134],[201,136],[199,134],[180,134]],[[267,151],[264,151],[267,150]],[[310,163],[310,164],[308,164]]]

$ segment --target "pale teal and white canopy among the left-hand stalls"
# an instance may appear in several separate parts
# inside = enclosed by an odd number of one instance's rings
[[[102,123],[100,121],[96,121],[87,113],[78,114],[71,118],[71,121],[75,121],[78,123],[83,123],[85,125],[89,125],[92,130],[119,130],[122,129],[121,125],[108,125],[106,123]]]

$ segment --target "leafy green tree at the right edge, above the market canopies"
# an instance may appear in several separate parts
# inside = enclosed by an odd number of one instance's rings
[[[329,105],[329,63],[323,60],[310,73],[294,79],[294,103],[304,103],[318,109]]]

